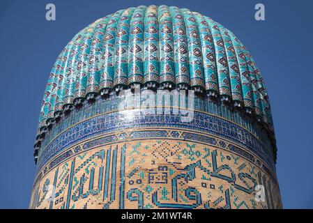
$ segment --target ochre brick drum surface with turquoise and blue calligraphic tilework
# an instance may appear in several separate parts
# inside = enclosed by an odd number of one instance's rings
[[[264,201],[255,200],[257,185],[264,185]],[[125,141],[77,153],[36,183],[30,203],[30,208],[280,207],[276,179],[256,164],[218,146],[181,139]]]

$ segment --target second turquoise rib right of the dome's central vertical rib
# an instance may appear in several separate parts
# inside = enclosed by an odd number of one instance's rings
[[[185,21],[177,7],[169,7],[173,22],[174,67],[176,88],[190,87],[188,45],[185,33]]]

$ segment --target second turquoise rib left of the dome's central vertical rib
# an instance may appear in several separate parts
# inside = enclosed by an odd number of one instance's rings
[[[123,12],[116,29],[114,53],[114,89],[116,91],[128,87],[128,37],[134,10],[135,8],[128,8]]]

